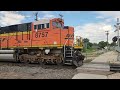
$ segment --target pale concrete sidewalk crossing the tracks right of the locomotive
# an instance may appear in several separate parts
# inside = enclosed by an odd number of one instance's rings
[[[90,63],[85,63],[83,66],[77,68],[78,74],[74,75],[72,79],[113,79],[120,78],[120,73],[117,75],[110,72],[109,61],[117,59],[117,53],[110,51],[96,57]]]

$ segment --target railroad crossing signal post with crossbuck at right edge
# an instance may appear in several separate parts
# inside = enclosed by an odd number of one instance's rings
[[[120,22],[119,22],[119,18],[117,18],[117,23],[116,23],[116,25],[114,25],[115,27],[116,27],[116,31],[117,31],[117,34],[118,34],[118,40],[117,40],[117,44],[118,44],[118,47],[117,47],[117,49],[118,49],[118,56],[117,56],[117,61],[120,61],[120,51],[119,51],[119,49],[120,49],[120,41],[119,41],[119,29],[120,29]]]

